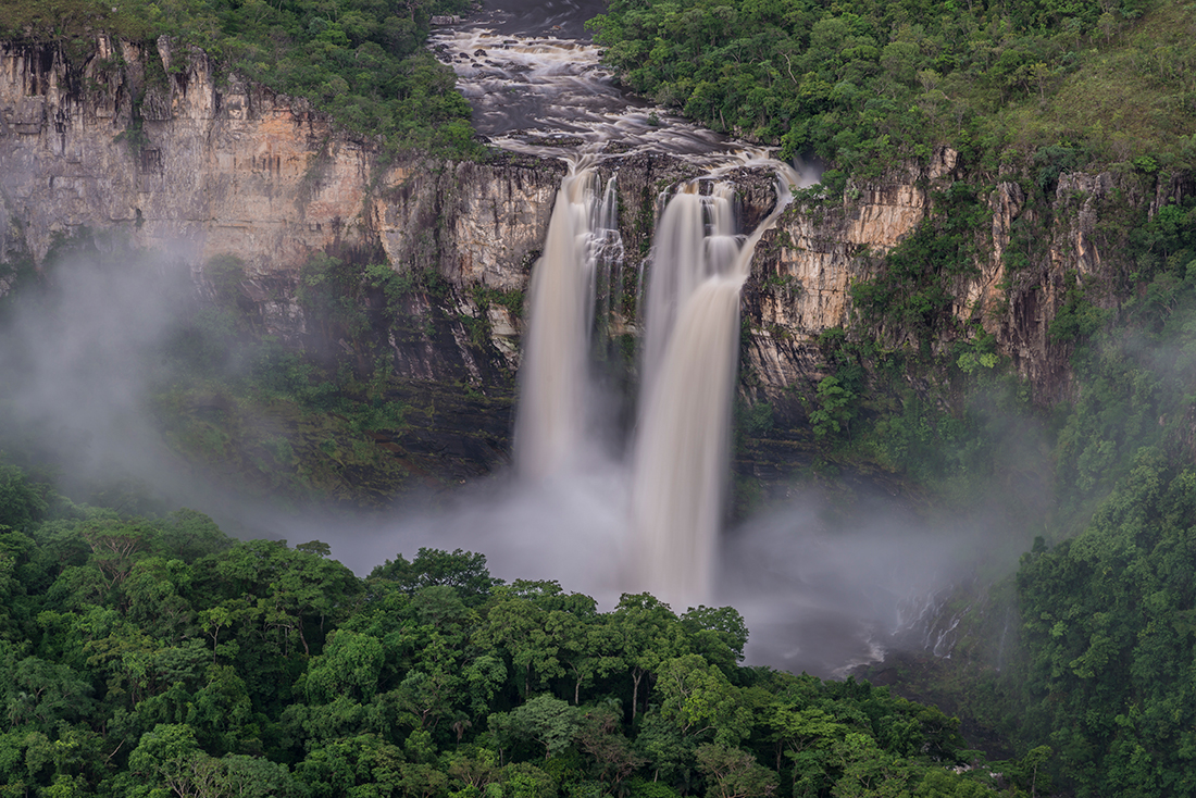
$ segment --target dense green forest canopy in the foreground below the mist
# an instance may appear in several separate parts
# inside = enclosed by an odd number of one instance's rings
[[[958,723],[867,682],[743,668],[730,608],[608,613],[420,549],[126,517],[0,464],[0,792],[982,796]],[[989,772],[1006,773],[994,782]],[[1039,782],[1041,784],[1041,782]]]

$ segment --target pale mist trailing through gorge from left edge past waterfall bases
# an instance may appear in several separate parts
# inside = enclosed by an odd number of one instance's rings
[[[50,459],[74,498],[104,500],[132,486],[160,511],[189,506],[233,535],[324,541],[360,575],[420,547],[463,548],[486,554],[495,575],[555,579],[604,609],[636,590],[623,578],[635,556],[627,469],[600,451],[572,475],[527,485],[500,473],[434,506],[416,498],[385,516],[297,512],[218,487],[167,449],[150,408],[177,301],[195,290],[189,268],[103,260],[124,264],[77,258],[47,275],[48,290],[22,296],[0,348],[0,440]],[[748,620],[749,662],[823,675],[864,662],[920,602],[975,573],[983,523],[927,529],[920,517],[883,494],[811,489],[727,530],[712,599]]]

